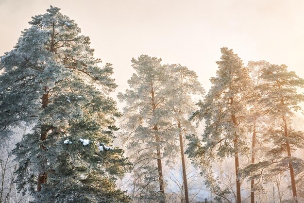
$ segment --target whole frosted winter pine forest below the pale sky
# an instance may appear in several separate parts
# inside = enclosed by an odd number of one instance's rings
[[[304,203],[304,79],[288,64],[223,45],[203,86],[141,53],[117,91],[115,61],[45,10],[0,53],[0,203]]]

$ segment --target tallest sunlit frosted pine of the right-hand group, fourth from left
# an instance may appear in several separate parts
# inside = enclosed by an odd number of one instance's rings
[[[251,85],[248,69],[232,50],[221,48],[221,61],[217,77],[211,78],[212,86],[208,91],[201,110],[192,115],[205,119],[202,139],[189,138],[186,151],[193,162],[202,166],[207,173],[208,166],[217,158],[235,157],[236,203],[241,203],[241,189],[238,175],[239,154],[249,151],[244,143],[246,131],[247,96]],[[211,179],[213,177],[210,176]]]

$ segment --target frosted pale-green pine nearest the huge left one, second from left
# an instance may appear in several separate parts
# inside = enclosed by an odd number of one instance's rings
[[[169,70],[161,59],[141,55],[132,59],[135,73],[128,80],[130,89],[119,93],[125,102],[122,135],[134,160],[134,198],[149,202],[165,201],[163,176],[164,153],[177,152],[171,148],[173,136],[167,131],[171,125],[167,101]],[[174,142],[174,145],[175,142]],[[159,188],[159,189],[157,189]]]

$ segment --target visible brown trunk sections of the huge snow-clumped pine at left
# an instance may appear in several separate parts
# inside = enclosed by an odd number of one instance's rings
[[[48,94],[48,87],[45,86],[44,87],[44,94],[42,95],[42,108],[45,109],[47,106],[48,106],[48,103],[49,103],[49,94]],[[48,133],[48,129],[46,126],[41,126],[41,137],[40,137],[40,140],[41,141],[44,141],[47,139],[47,133]],[[41,145],[40,146],[41,149],[43,150],[46,150],[46,147]],[[44,163],[47,162],[46,158],[42,158],[44,159],[42,162],[43,162],[43,166],[41,166],[41,169],[39,171],[39,174],[38,174],[38,180],[37,180],[37,192],[40,192],[41,191],[41,185],[46,183],[47,182],[47,173],[46,173],[46,169],[44,167]]]

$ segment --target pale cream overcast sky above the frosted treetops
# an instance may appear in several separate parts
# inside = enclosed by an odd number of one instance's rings
[[[245,65],[286,64],[304,78],[303,0],[0,0],[0,55],[50,5],[91,38],[95,57],[113,64],[118,91],[140,54],[187,66],[208,89],[224,46]]]

